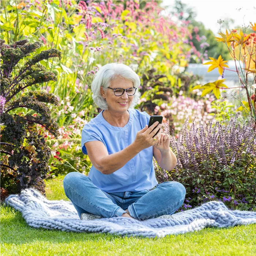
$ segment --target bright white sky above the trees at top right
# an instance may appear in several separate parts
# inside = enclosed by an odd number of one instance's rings
[[[203,22],[206,29],[211,29],[215,35],[218,35],[220,25],[217,20],[227,18],[234,19],[234,25],[228,29],[234,29],[236,25],[250,25],[250,22],[256,23],[256,0],[181,0],[182,3],[194,7],[197,13],[196,20]],[[163,0],[161,6],[173,6],[175,0]],[[167,8],[164,12],[168,13]],[[237,9],[240,9],[239,11]],[[223,23],[223,24],[224,24]],[[221,25],[222,32],[225,29]]]

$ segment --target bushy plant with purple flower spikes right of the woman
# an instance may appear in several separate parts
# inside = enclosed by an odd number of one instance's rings
[[[177,139],[172,130],[170,146],[177,165],[159,182],[181,182],[190,198],[186,207],[217,200],[231,210],[256,210],[256,131],[252,118],[239,124],[238,115],[226,126],[213,124],[214,116],[208,125],[199,121],[197,128],[194,118],[189,130],[187,118]]]

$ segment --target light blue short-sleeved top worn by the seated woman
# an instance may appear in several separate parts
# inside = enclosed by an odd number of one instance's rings
[[[87,155],[84,143],[99,140],[109,154],[119,152],[134,142],[137,132],[148,125],[150,115],[138,109],[128,109],[129,121],[124,127],[110,125],[102,116],[102,110],[96,117],[84,125],[82,130],[82,152]],[[158,184],[153,162],[153,146],[140,151],[122,168],[111,174],[103,174],[91,166],[88,177],[94,185],[105,192],[139,192],[154,188]]]

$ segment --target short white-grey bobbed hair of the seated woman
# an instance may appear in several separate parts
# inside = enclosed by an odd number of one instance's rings
[[[140,78],[129,66],[121,63],[109,63],[101,68],[95,74],[93,82],[91,83],[91,90],[93,92],[93,100],[96,105],[102,110],[108,110],[108,104],[106,100],[101,96],[100,88],[103,87],[103,90],[106,92],[108,86],[111,85],[111,81],[116,77],[122,77],[127,80],[131,80],[133,86],[138,88],[140,86]],[[134,107],[139,103],[141,93],[136,90],[136,93],[133,95],[132,103],[129,108],[134,109]]]

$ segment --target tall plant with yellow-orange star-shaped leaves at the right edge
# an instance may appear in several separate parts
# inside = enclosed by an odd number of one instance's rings
[[[221,22],[222,21],[220,21],[219,23],[221,24]],[[252,30],[256,31],[256,23],[254,23],[254,25],[251,23],[251,25]],[[254,119],[253,128],[256,130],[256,50],[254,49],[256,45],[256,33],[253,32],[247,35],[245,32],[246,28],[244,29],[244,32],[241,29],[233,29],[230,30],[230,33],[226,29],[226,34],[221,32],[219,33],[221,37],[216,38],[218,42],[223,42],[227,45],[229,53],[236,64],[236,70],[228,70],[236,72],[239,78],[239,87],[233,87],[239,88],[240,99],[233,95],[234,98],[238,99],[241,102],[241,108],[238,108],[237,110],[244,110],[246,114]],[[238,56],[236,48],[239,49]],[[212,71],[215,68],[218,68],[219,74],[222,75],[222,78],[224,78],[224,71],[228,67],[228,65],[225,64],[225,62],[227,61],[223,61],[221,55],[218,57],[218,59],[214,59],[211,57],[210,59],[212,61],[205,63],[206,65],[211,64],[208,72]],[[242,60],[242,63],[240,60]],[[192,90],[203,88],[204,90],[202,96],[212,91],[216,98],[219,98],[219,89],[230,89],[225,84],[223,84],[224,80],[225,79],[221,79],[213,83],[195,86]],[[246,91],[247,102],[243,101],[241,98],[240,90],[243,89]]]

